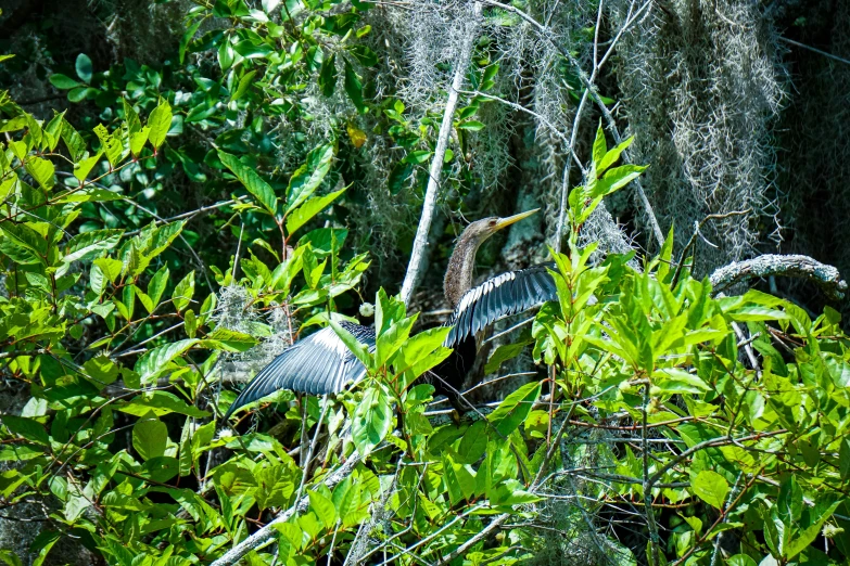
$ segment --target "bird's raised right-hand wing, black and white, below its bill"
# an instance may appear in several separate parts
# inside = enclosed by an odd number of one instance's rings
[[[555,269],[555,263],[508,271],[469,290],[446,321],[454,327],[444,346],[452,348],[499,319],[556,300],[555,280],[547,268]]]

